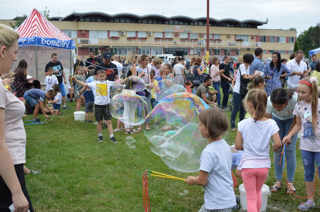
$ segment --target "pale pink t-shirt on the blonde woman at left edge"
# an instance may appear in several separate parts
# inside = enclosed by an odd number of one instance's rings
[[[5,144],[14,165],[26,163],[26,131],[22,117],[24,104],[0,82],[0,107],[5,110]]]

